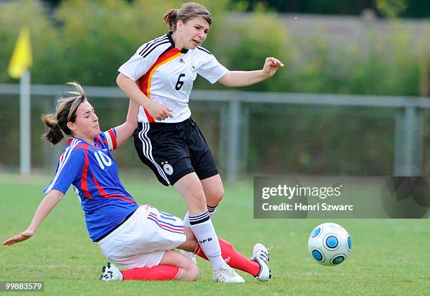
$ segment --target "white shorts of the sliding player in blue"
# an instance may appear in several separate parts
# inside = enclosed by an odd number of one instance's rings
[[[128,269],[158,265],[164,252],[185,243],[183,221],[150,205],[98,242],[107,259]]]

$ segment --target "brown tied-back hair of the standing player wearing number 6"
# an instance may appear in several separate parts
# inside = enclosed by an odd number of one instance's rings
[[[190,18],[196,18],[199,16],[201,16],[209,23],[209,25],[211,25],[211,13],[209,13],[209,11],[204,6],[194,2],[188,2],[182,4],[181,8],[179,9],[170,9],[167,11],[163,17],[163,20],[167,27],[169,27],[169,30],[174,32],[176,30],[176,22],[178,22],[178,20],[186,22]]]

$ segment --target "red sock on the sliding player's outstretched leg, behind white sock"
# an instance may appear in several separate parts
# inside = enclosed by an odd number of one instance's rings
[[[223,240],[222,238],[218,238],[219,246],[221,247],[221,256],[224,261],[234,269],[239,269],[241,271],[245,271],[252,276],[256,276],[260,271],[260,264],[255,261],[252,261],[245,257],[244,255],[237,252],[231,243]],[[197,244],[197,248],[195,250],[195,254],[199,255],[203,259],[207,259],[206,255],[200,245]]]

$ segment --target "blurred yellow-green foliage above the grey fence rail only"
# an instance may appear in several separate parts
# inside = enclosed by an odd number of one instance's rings
[[[282,19],[264,6],[235,18],[228,0],[200,2],[214,18],[204,46],[226,67],[259,69],[266,56],[277,56],[287,65],[274,79],[245,89],[419,96],[420,78],[429,73],[430,26],[425,22],[416,34],[393,21],[393,34],[386,36],[375,34],[370,25],[365,44],[344,41],[333,50],[318,32],[292,40]],[[0,11],[0,82],[16,82],[6,76],[6,67],[20,27],[28,25],[33,83],[76,79],[83,85],[114,86],[119,65],[145,41],[167,32],[162,16],[181,3],[71,0],[48,13],[38,1],[8,2]],[[197,88],[222,88],[201,80]]]

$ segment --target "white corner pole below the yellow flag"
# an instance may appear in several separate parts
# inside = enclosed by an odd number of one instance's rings
[[[29,175],[31,167],[30,71],[20,77],[20,172]]]

